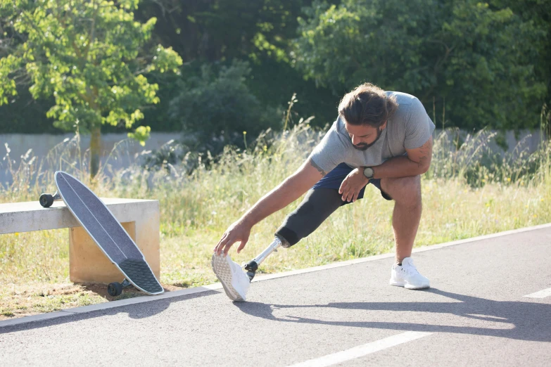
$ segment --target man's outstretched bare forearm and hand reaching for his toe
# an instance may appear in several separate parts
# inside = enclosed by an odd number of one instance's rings
[[[222,251],[227,255],[234,243],[241,242],[237,249],[239,253],[245,247],[248,237],[251,235],[251,228],[255,224],[300,198],[325,174],[327,172],[319,168],[313,160],[306,160],[295,173],[287,177],[272,191],[262,196],[238,221],[229,226],[218,241],[214,251],[218,255]]]

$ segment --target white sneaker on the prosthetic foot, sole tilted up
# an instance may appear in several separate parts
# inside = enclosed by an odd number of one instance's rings
[[[251,279],[243,272],[241,266],[236,262],[232,262],[229,255],[217,254],[213,254],[210,264],[213,266],[213,271],[220,283],[222,283],[222,287],[224,287],[224,291],[229,299],[245,302],[247,290],[251,286]]]

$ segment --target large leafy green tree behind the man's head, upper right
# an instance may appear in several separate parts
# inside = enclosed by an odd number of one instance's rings
[[[297,65],[336,95],[369,81],[433,98],[456,126],[536,127],[547,86],[533,56],[545,34],[478,0],[314,1],[300,20]],[[430,109],[429,109],[430,108]]]

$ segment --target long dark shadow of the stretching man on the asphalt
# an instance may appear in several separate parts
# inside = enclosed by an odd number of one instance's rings
[[[388,330],[411,330],[441,333],[489,335],[517,340],[551,342],[551,304],[522,301],[493,301],[484,298],[458,295],[436,288],[424,292],[450,297],[461,302],[331,302],[329,304],[282,305],[245,302],[236,304],[241,311],[251,316],[278,322],[313,323],[333,326],[354,326],[357,328],[378,328]],[[305,307],[328,307],[335,309],[360,309],[369,311],[419,311],[435,314],[450,314],[465,318],[503,323],[504,328],[483,328],[471,326],[429,325],[404,322],[406,316],[396,322],[381,321],[322,321],[313,318],[274,316],[276,309],[299,309]]]

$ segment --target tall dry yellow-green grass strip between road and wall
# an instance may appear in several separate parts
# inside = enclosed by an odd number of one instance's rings
[[[78,150],[77,135],[43,160],[30,152],[19,167],[10,166],[14,181],[0,188],[0,202],[37,200],[40,193],[55,191],[46,163],[79,177],[101,197],[157,199],[161,283],[169,290],[195,287],[216,281],[210,255],[227,226],[298,168],[322,136],[306,121],[281,136],[262,134],[247,151],[227,148],[219,160],[186,155],[179,165],[165,162],[159,170],[134,165],[110,175],[103,171],[91,181],[87,153]],[[422,181],[424,207],[416,246],[551,222],[550,146],[544,143],[531,155],[519,148],[502,156],[488,148],[493,138],[487,131],[461,137],[454,130],[436,137],[433,163]],[[119,150],[124,152],[124,146]],[[113,157],[118,154],[115,150]],[[258,255],[299,202],[255,226],[245,250],[232,252],[232,258],[244,262]],[[339,209],[311,236],[267,259],[261,271],[390,252],[392,209],[392,202],[369,186],[365,199]],[[67,230],[0,236],[0,318],[113,299],[105,286],[72,285],[68,262]],[[132,296],[125,291],[120,297]]]

